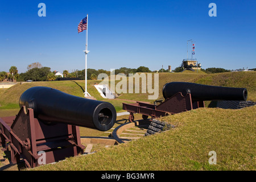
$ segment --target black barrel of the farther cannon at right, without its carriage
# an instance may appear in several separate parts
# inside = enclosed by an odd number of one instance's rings
[[[191,82],[170,82],[163,86],[164,98],[170,98],[178,92],[181,92],[183,96],[191,93],[193,101],[246,101],[247,99],[247,89],[245,88],[210,86]]]

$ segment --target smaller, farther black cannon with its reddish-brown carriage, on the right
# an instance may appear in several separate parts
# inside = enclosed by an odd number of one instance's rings
[[[247,99],[245,88],[210,86],[191,82],[170,82],[163,86],[162,91],[165,100],[159,105],[138,101],[134,104],[123,103],[123,110],[130,112],[129,121],[134,120],[134,113],[142,114],[143,119],[147,119],[148,116],[157,118],[204,107],[204,101],[246,101]]]

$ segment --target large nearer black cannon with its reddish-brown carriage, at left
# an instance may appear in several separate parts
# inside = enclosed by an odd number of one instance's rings
[[[79,126],[106,131],[117,115],[108,102],[42,86],[26,90],[19,105],[16,116],[0,118],[0,144],[13,164],[22,158],[27,167],[83,154]]]

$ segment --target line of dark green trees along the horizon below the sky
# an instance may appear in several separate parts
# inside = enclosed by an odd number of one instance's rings
[[[250,69],[255,71],[256,68]],[[207,69],[201,69],[201,71],[206,73],[222,73],[222,72],[230,72],[228,69],[224,68],[207,68]],[[32,63],[27,66],[27,71],[24,73],[18,74],[18,69],[15,66],[11,66],[9,69],[10,73],[6,73],[4,71],[0,72],[0,81],[3,80],[9,80],[9,81],[52,81],[56,80],[56,78],[61,76],[56,76],[55,71],[51,71],[51,68],[49,67],[43,67],[40,63]],[[138,67],[138,68],[126,68],[121,67],[119,69],[115,69],[115,75],[118,73],[123,73],[127,76],[129,76],[129,73],[138,73],[138,72],[156,72],[156,71],[150,71],[148,67]],[[159,69],[159,72],[168,72],[168,69]],[[180,72],[180,67],[177,67],[173,70],[173,72]],[[110,76],[110,71],[106,71],[104,69],[87,69],[87,79],[88,80],[97,80],[97,77],[100,73],[106,73],[106,75]],[[63,71],[63,77],[71,77],[71,78],[80,78],[81,80],[85,80],[85,69],[82,70],[75,70],[72,72],[68,72],[67,70]]]

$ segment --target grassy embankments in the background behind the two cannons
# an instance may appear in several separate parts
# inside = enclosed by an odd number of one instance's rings
[[[256,101],[256,72],[233,72],[233,73],[216,73],[206,74],[204,72],[185,71],[183,73],[159,73],[159,97],[163,99],[162,88],[167,82],[172,81],[186,81],[196,82],[199,84],[216,85],[216,86],[232,86],[243,87],[249,91],[247,100]],[[115,106],[117,111],[122,111],[122,102],[131,103],[127,100],[146,101],[148,100],[148,93],[122,93],[118,99],[106,100],[98,94],[94,83],[100,83],[98,80],[88,80],[88,92],[97,100],[110,102]],[[116,84],[119,81],[116,81]],[[140,90],[141,90],[140,82]],[[83,97],[85,82],[81,81],[51,81],[51,82],[30,82],[26,84],[17,84],[9,89],[0,90],[0,117],[10,115],[10,109],[15,109],[15,114],[18,113],[18,101],[20,95],[32,86],[48,86],[59,89],[65,93],[75,96]],[[206,102],[206,106],[209,102]],[[14,114],[11,114],[14,115]]]

